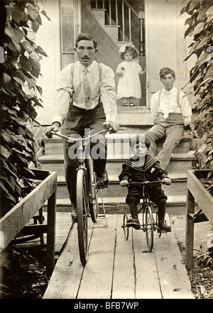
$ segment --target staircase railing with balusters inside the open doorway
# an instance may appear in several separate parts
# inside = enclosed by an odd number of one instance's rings
[[[119,26],[119,41],[133,42],[144,55],[144,14],[126,0],[92,0],[92,9],[105,9],[105,25]]]

